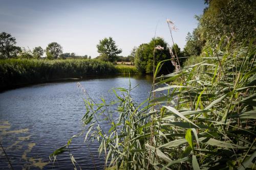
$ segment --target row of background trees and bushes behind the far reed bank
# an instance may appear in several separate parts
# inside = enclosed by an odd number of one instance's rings
[[[23,58],[23,59],[41,59],[44,53],[49,60],[55,59],[68,59],[68,58],[84,58],[91,59],[91,56],[77,56],[75,53],[62,53],[62,46],[57,42],[51,42],[44,50],[41,46],[33,48],[33,50],[21,48],[16,46],[16,39],[11,34],[2,32],[0,33],[0,58]],[[162,50],[154,50],[157,45],[163,47]],[[122,49],[118,48],[116,42],[112,37],[104,38],[97,44],[97,52],[99,56],[95,59],[108,62],[133,62],[139,72],[145,74],[153,73],[153,66],[158,62],[169,59],[169,46],[163,38],[153,38],[149,43],[143,43],[138,47],[133,47],[131,54],[127,57],[119,56],[122,53]],[[177,44],[173,45],[178,56],[184,57],[183,52]],[[153,63],[153,56],[155,55],[155,62]],[[182,59],[181,59],[182,60]],[[164,72],[172,72],[174,67],[170,63],[165,63],[162,67]]]

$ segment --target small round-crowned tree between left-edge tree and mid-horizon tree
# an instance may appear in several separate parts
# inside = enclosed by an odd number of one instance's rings
[[[48,59],[57,59],[62,54],[62,47],[57,42],[51,42],[46,47],[46,56]]]

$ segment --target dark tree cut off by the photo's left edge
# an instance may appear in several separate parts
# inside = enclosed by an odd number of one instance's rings
[[[15,46],[16,39],[6,32],[0,33],[0,58],[15,58],[21,48]]]

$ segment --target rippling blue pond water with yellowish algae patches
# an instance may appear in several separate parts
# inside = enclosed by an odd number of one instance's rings
[[[148,98],[151,79],[131,77],[136,102]],[[86,109],[77,82],[39,84],[0,93],[0,141],[14,169],[73,169],[68,152],[50,162],[49,155],[67,144],[68,139],[83,129],[81,117]],[[97,77],[80,81],[91,97],[98,101],[114,99],[113,87],[129,87],[128,77]],[[71,153],[82,169],[103,169],[98,144],[90,147],[83,137],[74,138]],[[95,165],[94,163],[95,162]],[[0,169],[8,169],[8,160],[0,148]]]

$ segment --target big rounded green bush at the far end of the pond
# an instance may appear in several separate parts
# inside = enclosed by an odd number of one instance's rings
[[[160,45],[163,50],[156,50],[155,47]],[[153,66],[166,59],[170,59],[170,54],[167,42],[163,38],[152,38],[149,43],[140,44],[135,53],[135,66],[141,73],[152,74]],[[154,61],[155,53],[155,63]],[[172,72],[174,67],[170,63],[165,63],[162,66],[162,72]]]

